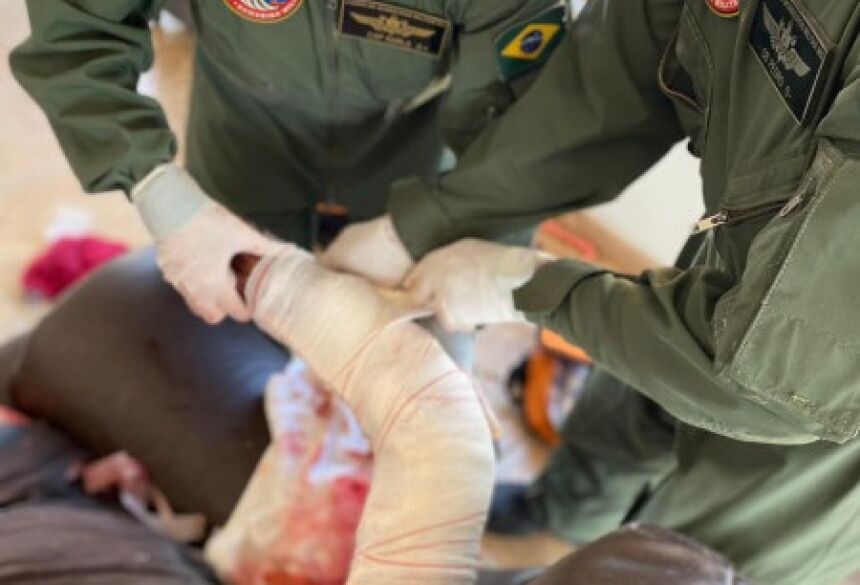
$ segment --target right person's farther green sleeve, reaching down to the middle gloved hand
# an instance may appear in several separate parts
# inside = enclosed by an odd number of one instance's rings
[[[389,210],[412,255],[467,236],[504,239],[609,200],[665,154],[682,131],[656,72],[681,5],[590,1],[454,171],[395,185]]]

